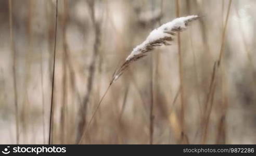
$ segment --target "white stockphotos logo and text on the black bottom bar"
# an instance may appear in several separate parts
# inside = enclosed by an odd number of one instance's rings
[[[9,154],[9,153],[66,153],[66,147],[10,147],[7,146],[2,150],[3,154]]]

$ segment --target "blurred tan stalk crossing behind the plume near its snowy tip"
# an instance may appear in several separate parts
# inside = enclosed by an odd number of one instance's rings
[[[176,0],[176,17],[180,17],[180,2]],[[177,33],[177,44],[178,44],[178,65],[180,73],[180,92],[181,92],[181,127],[182,133],[184,133],[184,90],[183,90],[183,57],[181,51],[181,35]]]

